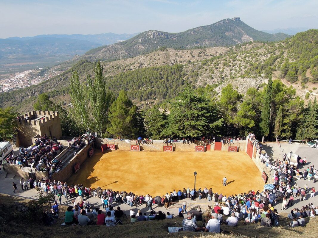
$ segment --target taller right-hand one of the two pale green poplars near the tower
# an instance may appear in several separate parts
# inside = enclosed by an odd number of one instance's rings
[[[96,63],[94,73],[94,80],[87,75],[86,81],[93,116],[92,129],[98,131],[102,137],[104,132],[106,132],[107,112],[111,103],[112,93],[106,91],[106,81],[103,77],[103,67],[100,62]]]

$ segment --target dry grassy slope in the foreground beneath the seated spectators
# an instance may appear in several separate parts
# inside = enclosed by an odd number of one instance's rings
[[[11,197],[0,194],[0,205],[9,204],[12,202],[27,203],[29,200],[21,197]],[[283,216],[280,218],[279,227],[265,228],[258,224],[245,224],[240,222],[238,227],[229,227],[221,225],[223,234],[211,235],[208,233],[190,233],[179,232],[176,234],[169,234],[169,226],[181,227],[182,219],[174,218],[173,220],[164,221],[144,221],[130,224],[128,217],[123,219],[123,226],[106,227],[106,226],[60,226],[63,222],[64,212],[66,206],[60,206],[60,218],[56,224],[45,227],[40,224],[17,223],[15,221],[3,222],[0,219],[0,237],[25,238],[25,237],[47,237],[47,238],[78,238],[78,237],[206,237],[206,238],[289,238],[302,237],[312,238],[318,231],[318,220],[316,218],[307,219],[307,226],[305,228],[288,228],[287,219]],[[5,214],[0,214],[0,217],[5,218]],[[202,222],[198,222],[202,226]]]

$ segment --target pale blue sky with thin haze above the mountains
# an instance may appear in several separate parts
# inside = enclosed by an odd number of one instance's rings
[[[257,30],[318,28],[317,0],[0,0],[0,38],[180,32],[240,17]]]

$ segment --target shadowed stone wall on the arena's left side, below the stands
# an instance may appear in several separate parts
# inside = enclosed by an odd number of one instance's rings
[[[77,153],[77,155],[75,155],[69,162],[67,162],[66,165],[64,165],[64,168],[62,170],[59,170],[59,172],[52,175],[52,180],[67,181],[69,177],[74,174],[74,165],[78,162],[81,165],[84,161],[86,161],[90,148],[91,144],[86,144],[83,149],[81,149]]]

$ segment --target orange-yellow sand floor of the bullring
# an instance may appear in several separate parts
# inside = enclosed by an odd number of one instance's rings
[[[245,152],[96,151],[67,182],[96,188],[132,191],[139,195],[163,195],[173,189],[194,186],[232,195],[261,190],[259,170]],[[222,185],[226,176],[229,184]]]

